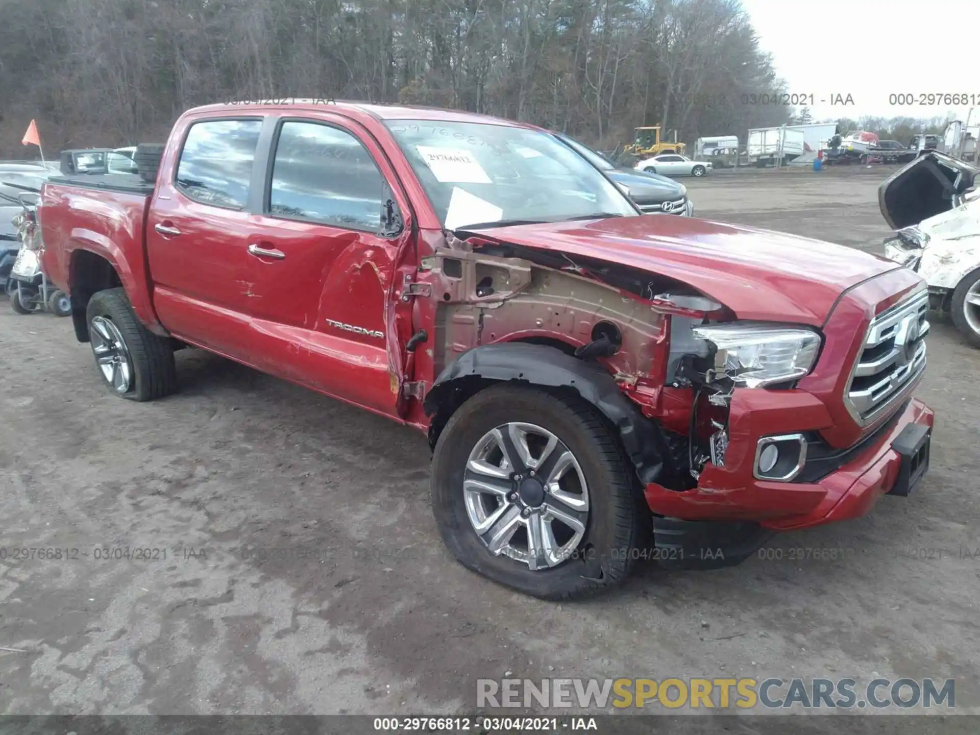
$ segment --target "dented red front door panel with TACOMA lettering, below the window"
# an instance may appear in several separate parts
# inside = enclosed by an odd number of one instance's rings
[[[394,414],[385,305],[401,239],[259,218],[282,252],[256,258],[246,291],[257,367]]]

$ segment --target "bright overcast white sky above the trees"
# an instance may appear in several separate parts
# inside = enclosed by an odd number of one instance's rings
[[[742,0],[742,7],[788,91],[813,95],[814,120],[947,112],[965,120],[969,101],[917,104],[921,93],[960,93],[973,95],[970,124],[980,122],[980,0]],[[889,104],[900,93],[916,104]],[[838,94],[854,105],[831,105]]]

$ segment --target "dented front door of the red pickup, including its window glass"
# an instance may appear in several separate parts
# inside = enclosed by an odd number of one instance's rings
[[[401,417],[413,332],[411,304],[395,292],[415,270],[411,210],[357,125],[318,112],[284,118],[276,130],[245,292],[256,366]],[[386,197],[404,218],[400,229],[382,221]]]

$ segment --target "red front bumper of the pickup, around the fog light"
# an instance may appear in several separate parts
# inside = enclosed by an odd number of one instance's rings
[[[754,521],[761,528],[807,528],[864,515],[896,485],[903,458],[893,443],[909,424],[932,429],[934,414],[917,399],[908,401],[872,440],[844,464],[812,482],[774,482],[753,475],[760,436],[819,430],[830,422],[825,407],[805,391],[758,391],[747,399],[744,417],[732,421],[725,466],[708,465],[698,487],[678,492],[651,483],[644,494],[657,515],[684,520]],[[782,394],[775,396],[772,394]],[[764,396],[762,394],[770,394]]]

